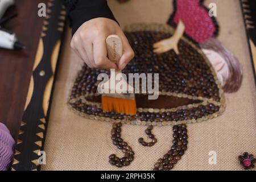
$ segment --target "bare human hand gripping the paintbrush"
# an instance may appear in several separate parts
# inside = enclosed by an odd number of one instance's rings
[[[123,55],[118,64],[107,57],[106,38],[112,34],[118,35],[123,43]],[[108,18],[94,18],[82,24],[73,35],[71,47],[90,68],[124,69],[134,57],[134,51],[117,22]]]

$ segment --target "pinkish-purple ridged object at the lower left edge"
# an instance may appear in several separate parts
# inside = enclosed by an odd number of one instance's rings
[[[0,123],[0,171],[6,171],[13,161],[15,140],[3,123]]]

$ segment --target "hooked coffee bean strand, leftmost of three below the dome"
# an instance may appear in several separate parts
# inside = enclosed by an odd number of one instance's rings
[[[109,156],[109,163],[116,167],[129,166],[134,159],[133,149],[121,138],[121,126],[120,122],[113,123],[111,131],[113,144],[125,154],[123,158],[118,158],[115,154]]]

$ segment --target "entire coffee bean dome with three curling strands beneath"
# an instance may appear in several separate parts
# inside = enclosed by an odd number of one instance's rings
[[[78,73],[68,105],[75,113],[96,121],[112,122],[112,140],[125,154],[110,155],[109,162],[117,167],[129,166],[134,151],[121,138],[122,124],[147,126],[147,142],[139,138],[141,147],[155,147],[153,126],[174,125],[174,140],[170,151],[155,164],[155,170],[169,170],[187,150],[187,123],[218,117],[225,110],[225,98],[216,73],[200,48],[186,38],[179,41],[179,55],[174,51],[156,54],[152,45],[172,36],[174,30],[161,24],[133,24],[124,29],[135,52],[134,59],[122,71],[128,73],[159,73],[159,97],[148,100],[148,93],[135,94],[137,114],[102,111],[101,94],[97,92],[97,76],[109,71],[90,69],[84,65]],[[140,84],[140,89],[141,89]],[[149,141],[149,142],[148,142]]]

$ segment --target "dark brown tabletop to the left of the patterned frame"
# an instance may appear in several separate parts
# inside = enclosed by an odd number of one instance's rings
[[[23,51],[0,48],[0,122],[18,136],[26,102],[28,85],[38,47],[44,18],[38,16],[38,4],[47,0],[16,1],[6,14],[17,12],[17,18],[7,22],[3,28],[14,31],[19,42],[26,46]]]

